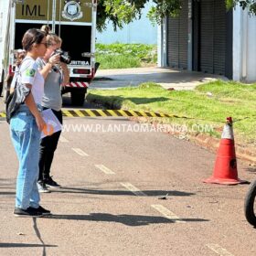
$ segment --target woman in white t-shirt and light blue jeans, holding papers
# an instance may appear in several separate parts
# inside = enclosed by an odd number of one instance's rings
[[[45,55],[46,35],[36,28],[28,29],[22,45],[27,55],[19,67],[18,79],[30,89],[30,93],[10,121],[11,138],[19,162],[14,214],[17,217],[40,217],[50,213],[39,205],[37,189],[40,135],[46,123],[40,113],[44,78],[37,70],[36,59]]]

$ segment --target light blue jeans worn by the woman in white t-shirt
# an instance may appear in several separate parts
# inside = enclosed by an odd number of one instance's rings
[[[16,208],[38,208],[40,197],[37,178],[41,132],[26,104],[22,104],[11,118],[10,130],[19,162],[16,178]]]

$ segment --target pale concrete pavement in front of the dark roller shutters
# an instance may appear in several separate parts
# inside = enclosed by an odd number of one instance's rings
[[[228,80],[223,76],[192,72],[187,70],[162,68],[136,69],[99,69],[91,89],[117,89],[137,86],[146,81],[159,83],[163,88],[175,90],[193,90],[197,85],[210,80]]]

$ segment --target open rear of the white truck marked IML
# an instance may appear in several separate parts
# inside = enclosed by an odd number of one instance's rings
[[[70,79],[94,75],[96,0],[24,0],[16,4],[15,48],[27,29],[48,24],[69,51]]]

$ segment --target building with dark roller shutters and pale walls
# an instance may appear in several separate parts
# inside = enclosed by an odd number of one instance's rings
[[[158,66],[256,81],[256,17],[225,0],[182,0],[158,27]]]

